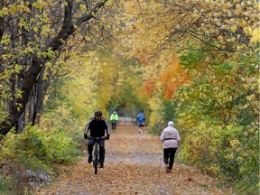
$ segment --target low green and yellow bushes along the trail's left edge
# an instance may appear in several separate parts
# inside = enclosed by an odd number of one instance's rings
[[[79,162],[82,133],[70,112],[60,109],[47,113],[41,126],[28,125],[23,134],[11,132],[1,141],[0,194],[32,194],[59,176],[61,166]]]

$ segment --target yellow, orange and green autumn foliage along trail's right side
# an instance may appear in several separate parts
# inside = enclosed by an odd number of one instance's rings
[[[173,119],[187,163],[257,194],[259,3],[139,2],[126,7],[138,15],[128,47],[144,62],[150,125]]]

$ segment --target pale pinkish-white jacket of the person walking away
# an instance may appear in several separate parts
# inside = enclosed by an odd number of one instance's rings
[[[177,129],[169,125],[163,129],[160,140],[163,142],[163,148],[178,148],[181,136]]]

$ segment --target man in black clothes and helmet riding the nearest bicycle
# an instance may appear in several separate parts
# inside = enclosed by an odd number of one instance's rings
[[[94,112],[94,117],[90,118],[88,124],[85,127],[84,131],[84,138],[88,139],[88,131],[90,130],[90,136],[88,140],[88,163],[92,162],[92,152],[93,152],[93,145],[95,144],[95,140],[91,139],[93,137],[101,137],[105,136],[105,131],[107,130],[106,139],[109,139],[110,136],[110,129],[107,125],[107,120],[102,117],[102,112],[97,110]],[[99,145],[99,163],[100,168],[104,167],[104,160],[105,160],[105,140],[98,140]]]

